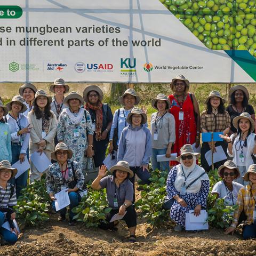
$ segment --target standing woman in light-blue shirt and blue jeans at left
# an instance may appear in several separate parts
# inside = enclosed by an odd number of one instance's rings
[[[11,131],[11,164],[14,164],[19,160],[22,163],[25,161],[25,157],[29,157],[28,143],[30,137],[29,131],[31,128],[27,116],[23,115],[27,110],[27,107],[20,95],[14,96],[12,100],[7,103],[6,107],[10,110],[10,113],[6,118]],[[21,189],[27,186],[27,179],[28,171],[22,173],[17,179],[11,181],[12,184],[16,185],[17,197],[20,196]]]

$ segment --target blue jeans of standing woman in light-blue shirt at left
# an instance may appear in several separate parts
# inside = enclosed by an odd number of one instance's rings
[[[17,161],[19,161],[19,156],[20,156],[20,150],[21,146],[20,145],[12,145],[12,163],[14,164]],[[29,152],[27,150],[27,156],[29,156]],[[16,187],[16,196],[17,198],[21,195],[20,191],[22,188],[25,188],[27,186],[27,180],[28,180],[28,170],[24,173],[22,173],[17,179],[12,178],[9,180],[9,182]]]

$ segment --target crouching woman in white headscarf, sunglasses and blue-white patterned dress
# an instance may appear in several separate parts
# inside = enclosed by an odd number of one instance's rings
[[[185,227],[186,213],[194,210],[198,216],[202,208],[206,208],[210,181],[204,169],[196,164],[199,153],[195,153],[190,144],[180,149],[180,162],[169,172],[166,191],[167,198],[174,199],[170,216],[177,226],[175,231],[182,231]]]

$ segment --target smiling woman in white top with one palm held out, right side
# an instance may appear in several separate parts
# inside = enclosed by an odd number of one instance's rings
[[[241,175],[243,176],[249,166],[253,164],[252,155],[256,155],[255,145],[255,124],[249,113],[242,113],[233,119],[233,125],[237,129],[230,137],[228,135],[221,136],[228,142],[227,153],[233,157],[233,162],[237,165]],[[236,180],[242,185],[247,185],[242,178]]]

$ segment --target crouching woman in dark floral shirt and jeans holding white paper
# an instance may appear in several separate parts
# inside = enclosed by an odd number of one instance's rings
[[[77,162],[70,161],[73,153],[65,143],[58,143],[55,151],[51,154],[54,161],[58,161],[49,167],[46,176],[46,189],[52,200],[52,207],[55,210],[54,194],[59,193],[62,189],[68,189],[70,199],[69,205],[69,225],[75,225],[73,217],[75,214],[71,211],[81,201],[81,196],[77,193],[84,185],[84,175],[81,167]],[[66,207],[59,211],[59,220],[66,220]]]

